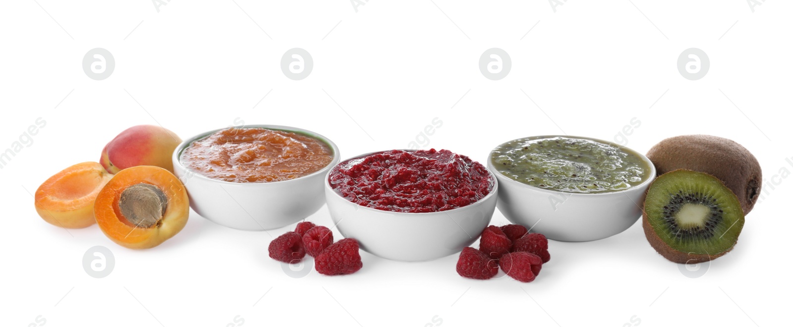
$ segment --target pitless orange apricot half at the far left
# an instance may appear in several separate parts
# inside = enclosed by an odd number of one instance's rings
[[[98,162],[82,162],[63,169],[36,189],[36,212],[55,226],[94,225],[94,200],[111,177]]]

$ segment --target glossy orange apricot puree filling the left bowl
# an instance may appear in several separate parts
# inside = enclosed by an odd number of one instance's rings
[[[193,142],[179,161],[194,173],[235,183],[288,181],[333,161],[320,139],[266,128],[228,128]]]

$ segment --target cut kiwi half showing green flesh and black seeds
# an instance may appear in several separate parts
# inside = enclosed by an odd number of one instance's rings
[[[730,252],[744,225],[737,196],[707,173],[678,169],[657,177],[645,198],[642,226],[649,244],[679,264]]]

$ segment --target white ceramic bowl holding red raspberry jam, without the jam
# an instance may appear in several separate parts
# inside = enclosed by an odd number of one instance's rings
[[[345,238],[357,239],[361,249],[385,259],[426,261],[458,253],[479,238],[496,210],[495,179],[488,195],[465,207],[412,213],[352,203],[331,188],[329,175],[324,181],[325,198],[333,223]],[[493,173],[490,176],[495,178]]]

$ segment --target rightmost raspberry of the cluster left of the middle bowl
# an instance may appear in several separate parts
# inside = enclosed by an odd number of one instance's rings
[[[358,241],[343,238],[328,246],[314,262],[316,271],[323,275],[347,275],[363,267],[358,253]]]

